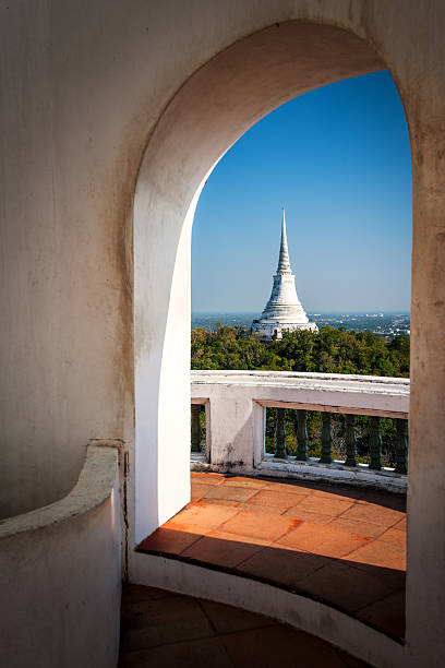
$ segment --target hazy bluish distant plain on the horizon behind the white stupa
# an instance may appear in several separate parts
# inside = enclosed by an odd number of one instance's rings
[[[407,312],[360,312],[360,313],[310,313],[311,321],[316,322],[318,327],[329,325],[332,327],[345,327],[356,332],[369,331],[380,336],[409,336],[410,314]],[[215,331],[217,323],[232,327],[250,329],[252,320],[258,318],[257,312],[208,312],[192,313],[192,330],[202,327]]]

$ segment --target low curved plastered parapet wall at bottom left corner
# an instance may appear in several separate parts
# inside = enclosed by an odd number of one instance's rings
[[[0,592],[1,666],[117,666],[118,450],[89,446],[67,497],[0,523]]]

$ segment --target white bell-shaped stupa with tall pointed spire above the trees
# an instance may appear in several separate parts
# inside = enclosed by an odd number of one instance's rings
[[[296,277],[290,269],[285,210],[282,210],[278,267],[274,276],[269,300],[261,318],[253,321],[252,333],[262,338],[281,338],[284,331],[294,332],[297,330],[317,332],[318,327],[314,322],[309,321],[297,295]]]

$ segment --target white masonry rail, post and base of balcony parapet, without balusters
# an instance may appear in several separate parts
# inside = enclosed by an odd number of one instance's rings
[[[205,463],[194,468],[335,479],[405,491],[393,470],[317,461],[276,461],[264,454],[265,407],[322,410],[407,419],[409,379],[287,371],[192,371],[192,403],[206,406]]]

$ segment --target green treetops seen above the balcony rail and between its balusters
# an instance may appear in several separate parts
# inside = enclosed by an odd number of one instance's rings
[[[192,330],[192,369],[256,369],[269,371],[314,371],[364,375],[409,377],[409,338],[386,339],[372,332],[352,332],[325,326],[318,333],[288,332],[281,341],[262,342],[241,327],[218,325],[215,332]],[[286,448],[297,451],[296,410],[286,411]],[[204,416],[203,416],[204,417]],[[309,454],[321,455],[322,418],[308,415]],[[276,409],[266,409],[265,450],[275,452]],[[369,418],[356,418],[359,461],[369,462]],[[396,427],[382,419],[383,461],[394,466]],[[345,460],[345,416],[333,415],[333,451]]]

